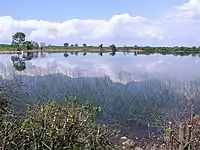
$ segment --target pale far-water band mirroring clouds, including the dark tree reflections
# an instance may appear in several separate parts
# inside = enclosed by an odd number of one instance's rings
[[[141,80],[141,78],[136,79],[141,74],[191,79],[198,77],[200,73],[199,54],[182,57],[161,54],[143,55],[139,52],[84,52],[80,55],[78,53],[80,52],[50,54],[29,52],[22,55],[0,55],[0,63],[8,65],[12,60],[13,68],[26,74],[36,74],[40,70],[43,74],[62,73],[69,76],[107,75],[117,81],[121,80],[117,75],[121,72],[132,74],[131,78],[134,80]],[[110,55],[114,57],[109,57]]]

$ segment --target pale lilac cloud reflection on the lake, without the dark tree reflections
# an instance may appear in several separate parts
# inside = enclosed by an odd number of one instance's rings
[[[181,79],[194,79],[200,73],[199,57],[172,55],[138,55],[117,53],[87,56],[63,53],[39,55],[37,59],[26,61],[26,70],[18,72],[12,67],[10,55],[0,55],[0,75],[3,77],[19,75],[63,74],[71,77],[109,76],[113,81],[142,80],[145,76],[166,76]]]

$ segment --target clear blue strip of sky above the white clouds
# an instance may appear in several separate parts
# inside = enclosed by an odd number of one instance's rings
[[[0,16],[14,19],[61,21],[72,18],[108,19],[112,15],[130,13],[158,18],[184,0],[2,0]]]

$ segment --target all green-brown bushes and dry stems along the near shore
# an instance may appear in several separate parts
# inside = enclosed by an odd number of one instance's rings
[[[94,119],[100,110],[74,97],[65,105],[43,102],[19,116],[5,99],[0,104],[0,149],[30,150],[198,150],[200,117],[163,127],[159,136],[133,140]]]

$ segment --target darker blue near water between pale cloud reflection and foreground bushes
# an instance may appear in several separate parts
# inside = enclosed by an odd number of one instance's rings
[[[97,121],[125,127],[131,131],[140,126],[145,131],[140,133],[142,135],[147,133],[147,124],[155,124],[155,116],[163,123],[172,120],[171,114],[174,116],[173,120],[181,118],[180,114],[185,109],[183,106],[186,106],[188,101],[183,95],[184,89],[180,91],[170,80],[166,82],[164,79],[122,84],[114,83],[108,77],[70,78],[57,74],[35,77],[23,75],[16,76],[15,80],[20,80],[25,85],[22,90],[28,93],[28,101],[24,100],[24,103],[37,104],[46,100],[62,103],[59,100],[73,95],[78,97],[80,102],[86,100],[101,108]],[[189,93],[192,92],[194,89]],[[195,104],[198,104],[197,97],[195,99]]]

